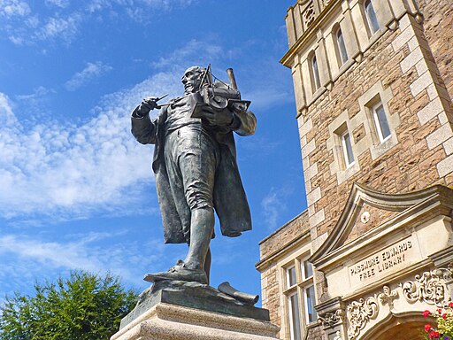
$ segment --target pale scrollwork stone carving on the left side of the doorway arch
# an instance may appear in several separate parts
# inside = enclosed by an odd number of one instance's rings
[[[379,313],[378,299],[376,296],[364,300],[352,301],[346,307],[346,315],[349,321],[348,338],[356,340],[360,331],[365,328],[370,319],[374,319]]]

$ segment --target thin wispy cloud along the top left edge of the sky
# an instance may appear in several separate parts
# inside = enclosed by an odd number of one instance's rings
[[[88,4],[87,4],[88,3]],[[0,17],[5,22],[0,33],[17,45],[35,44],[42,41],[70,43],[83,29],[83,23],[93,19],[127,18],[146,25],[162,11],[178,10],[195,4],[196,0],[45,0],[50,10],[33,11],[35,7],[21,0],[0,0]]]

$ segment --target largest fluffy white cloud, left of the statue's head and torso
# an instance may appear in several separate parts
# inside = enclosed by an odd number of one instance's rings
[[[28,127],[0,93],[0,216],[40,213],[58,219],[136,211],[134,203],[146,194],[142,190],[155,192],[152,146],[134,140],[129,114],[142,97],[176,95],[179,78],[179,73],[157,73],[106,96],[96,117],[81,125],[42,120]]]

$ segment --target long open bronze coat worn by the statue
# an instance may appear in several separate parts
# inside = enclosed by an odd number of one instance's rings
[[[138,107],[134,112],[137,109]],[[152,169],[156,176],[157,200],[162,215],[165,243],[186,243],[182,234],[180,215],[176,211],[170,189],[172,179],[169,178],[165,166],[164,129],[167,109],[164,107],[155,120],[151,120],[149,114],[138,118],[134,112],[131,120],[135,139],[142,144],[155,144]],[[257,126],[257,119],[252,112],[234,112],[233,125],[234,132],[238,135],[252,135]],[[223,130],[213,134],[219,143],[221,156],[215,174],[213,205],[219,216],[222,235],[234,237],[240,236],[242,231],[251,229],[251,216],[236,162],[233,131],[231,128]],[[186,220],[190,220],[189,216]]]

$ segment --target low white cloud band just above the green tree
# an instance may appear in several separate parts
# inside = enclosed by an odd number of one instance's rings
[[[2,258],[12,257],[13,265],[0,274],[0,281],[24,280],[24,276],[42,276],[61,270],[83,269],[93,273],[109,271],[127,282],[137,282],[143,267],[159,267],[164,244],[151,240],[147,244],[126,241],[123,233],[88,233],[73,235],[66,242],[43,241],[25,235],[0,236]],[[142,251],[146,246],[152,253]],[[140,265],[137,265],[140,264]],[[22,276],[22,277],[20,277]],[[20,283],[19,283],[20,284]]]

